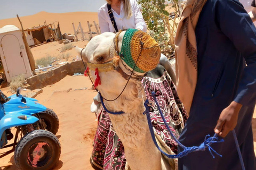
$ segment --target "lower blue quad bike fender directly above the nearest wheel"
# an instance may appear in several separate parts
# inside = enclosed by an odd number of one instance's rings
[[[26,116],[26,117],[25,117]],[[3,132],[6,129],[22,126],[26,124],[33,124],[38,121],[38,118],[35,116],[27,114],[7,114],[0,120],[0,136],[2,137]]]

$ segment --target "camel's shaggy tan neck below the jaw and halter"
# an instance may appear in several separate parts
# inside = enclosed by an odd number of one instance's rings
[[[108,98],[115,98],[118,92],[105,93]],[[128,164],[134,170],[159,170],[161,168],[161,152],[157,150],[148,128],[147,117],[143,115],[142,94],[144,89],[139,80],[132,80],[127,85],[121,97],[115,101],[106,101],[110,111],[123,111],[121,115],[111,115],[110,119],[114,129],[121,139]]]

